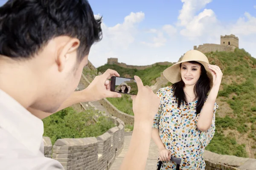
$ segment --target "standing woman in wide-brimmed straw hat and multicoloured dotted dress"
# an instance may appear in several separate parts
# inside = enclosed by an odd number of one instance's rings
[[[200,51],[190,50],[163,75],[173,85],[157,91],[161,103],[152,129],[157,162],[162,161],[161,170],[176,169],[170,161],[174,156],[181,158],[182,170],[204,170],[204,148],[215,133],[221,69]]]

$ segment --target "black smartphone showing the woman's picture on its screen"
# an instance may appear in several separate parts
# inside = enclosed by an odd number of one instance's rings
[[[111,77],[110,91],[122,94],[137,95],[137,82],[135,79],[113,76]]]

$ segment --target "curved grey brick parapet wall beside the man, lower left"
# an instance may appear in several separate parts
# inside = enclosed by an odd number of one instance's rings
[[[51,145],[44,137],[44,154],[58,160],[65,170],[108,170],[116,155],[124,146],[124,122],[112,116],[117,122],[101,136],[79,139],[58,139]]]

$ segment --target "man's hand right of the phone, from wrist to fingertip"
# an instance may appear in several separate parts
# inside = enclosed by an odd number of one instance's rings
[[[148,121],[151,123],[158,111],[160,99],[148,85],[143,85],[140,77],[134,76],[134,79],[138,86],[137,96],[131,97],[133,99],[134,121]]]

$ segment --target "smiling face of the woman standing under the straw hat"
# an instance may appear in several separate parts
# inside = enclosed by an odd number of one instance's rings
[[[201,76],[201,65],[183,62],[180,68],[181,79],[185,85],[195,85]]]

